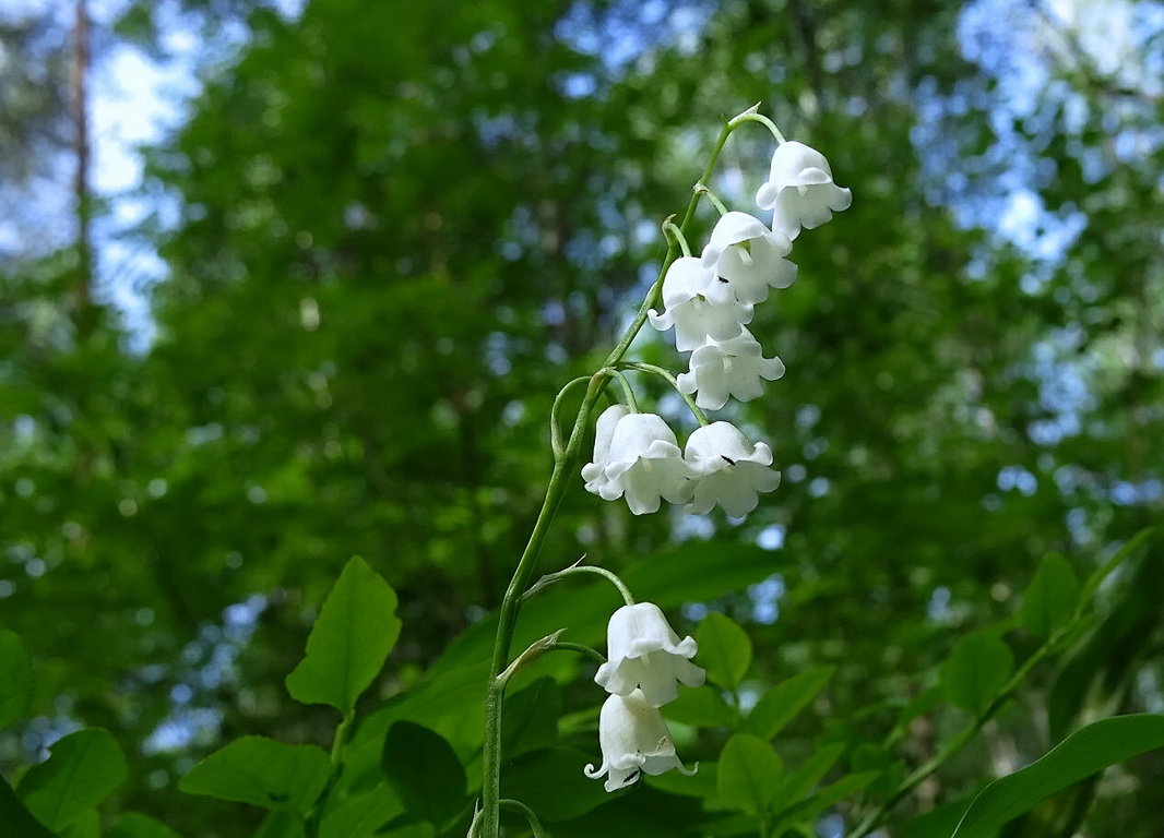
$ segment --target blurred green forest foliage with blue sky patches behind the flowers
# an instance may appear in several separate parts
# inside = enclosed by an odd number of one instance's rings
[[[434,661],[482,659],[548,475],[553,395],[653,278],[718,115],[754,101],[854,194],[797,241],[801,278],[753,328],[789,371],[736,418],[783,484],[744,523],[632,519],[577,487],[546,569],[584,552],[640,568],[639,596],[683,632],[709,611],[743,624],[745,705],[832,667],[778,751],[842,745],[859,773],[924,761],[964,718],[927,710],[888,753],[861,750],[960,637],[1037,646],[1013,615],[1044,554],[1083,577],[1159,517],[1158,2],[183,0],[98,19],[94,66],[116,47],[165,61],[177,30],[197,85],[141,149],[149,214],[119,225],[116,196],[52,197],[79,151],[71,20],[0,12],[0,627],[36,672],[0,769],[109,731],[129,759],[106,825],[132,809],[254,832],[261,812],[178,779],[243,734],[327,746],[334,711],[284,677],[354,554],[403,622],[369,720]],[[733,139],[725,199],[746,207],[769,151],[759,129]],[[78,221],[106,230],[95,250]],[[137,289],[144,318],[114,304],[134,277],[111,241],[164,265]],[[680,364],[663,340],[638,351]],[[1149,545],[904,810],[1083,719],[1164,709],[1161,584]],[[572,627],[597,641],[617,598],[589,597]],[[541,674],[590,760],[599,696],[580,672]],[[433,725],[468,759],[471,723]],[[693,760],[725,740],[677,736]],[[1164,761],[1091,793],[1084,835],[1152,838]]]

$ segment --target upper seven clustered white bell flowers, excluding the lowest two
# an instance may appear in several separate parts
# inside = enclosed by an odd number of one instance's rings
[[[796,278],[796,265],[785,257],[801,228],[821,226],[847,208],[852,196],[833,184],[821,152],[793,141],[776,148],[755,200],[773,211],[772,228],[747,213],[725,212],[703,253],[680,257],[667,270],[665,311],[648,312],[652,326],[674,328],[675,347],[691,353],[676,385],[703,410],[719,410],[732,397],[757,398],[764,381],[785,374],[780,358],[764,357],[746,325],[769,289],[788,287]],[[758,492],[779,485],[772,461],[766,443],[752,443],[730,422],[700,427],[680,450],[662,418],[613,405],[598,417],[594,460],[582,477],[587,491],[605,500],[625,497],[634,514],[655,512],[667,500],[687,503],[696,514],[718,504],[739,518],[755,509]]]

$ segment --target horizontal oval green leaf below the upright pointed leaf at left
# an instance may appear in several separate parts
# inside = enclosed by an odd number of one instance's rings
[[[178,788],[263,809],[306,812],[331,773],[332,761],[322,748],[248,736],[196,765]]]

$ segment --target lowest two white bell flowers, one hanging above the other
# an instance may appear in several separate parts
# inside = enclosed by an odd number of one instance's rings
[[[682,640],[658,605],[638,603],[618,609],[606,627],[610,659],[594,680],[610,696],[598,713],[602,765],[585,767],[591,779],[606,775],[604,788],[615,791],[640,774],[677,768],[694,774],[675,755],[667,724],[658,708],[679,697],[677,684],[698,687],[705,673],[691,663],[695,638]]]

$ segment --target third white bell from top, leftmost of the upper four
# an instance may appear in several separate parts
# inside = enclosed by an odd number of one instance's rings
[[[708,339],[726,340],[752,321],[752,306],[736,301],[726,282],[715,270],[704,268],[695,256],[681,256],[667,269],[662,280],[662,301],[667,311],[647,312],[651,325],[660,332],[674,326],[675,348],[690,351]]]

